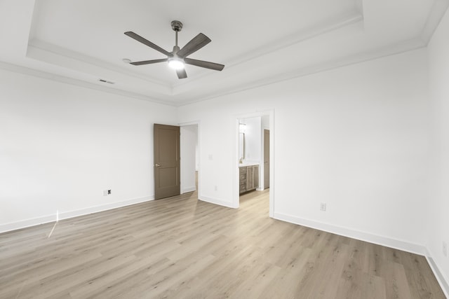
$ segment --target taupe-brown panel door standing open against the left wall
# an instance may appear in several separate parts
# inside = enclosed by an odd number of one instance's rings
[[[154,124],[154,199],[180,195],[180,127]]]

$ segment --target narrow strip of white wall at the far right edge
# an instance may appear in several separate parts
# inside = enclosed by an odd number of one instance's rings
[[[429,93],[431,102],[431,192],[427,207],[427,249],[445,279],[449,293],[449,13],[429,43]],[[448,253],[449,254],[449,253]]]

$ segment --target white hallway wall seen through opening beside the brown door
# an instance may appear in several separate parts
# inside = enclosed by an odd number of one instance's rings
[[[196,190],[195,170],[196,150],[198,144],[198,125],[186,125],[180,127],[181,148],[181,194]]]

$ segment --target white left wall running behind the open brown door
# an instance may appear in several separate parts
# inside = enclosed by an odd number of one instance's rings
[[[0,70],[0,231],[152,199],[153,123],[175,112]]]

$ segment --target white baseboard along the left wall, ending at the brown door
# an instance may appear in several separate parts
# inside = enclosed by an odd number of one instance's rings
[[[53,214],[53,215],[47,215],[47,216],[41,216],[41,217],[36,217],[36,218],[32,218],[32,219],[17,221],[17,222],[13,222],[13,223],[1,224],[0,232],[9,232],[11,230],[19,230],[20,228],[28,228],[29,226],[53,222],[53,221],[56,221],[57,218],[59,220],[73,218],[76,216],[97,213],[99,211],[107,211],[109,209],[126,207],[130,204],[138,204],[140,202],[147,202],[149,200],[154,200],[154,196],[136,197],[136,198],[131,198],[129,200],[123,200],[121,202],[111,202],[109,204],[102,204],[102,205],[96,206],[96,207],[88,207],[86,209],[78,209],[78,210],[74,210],[74,211],[63,211],[63,212],[60,212],[58,215]]]

